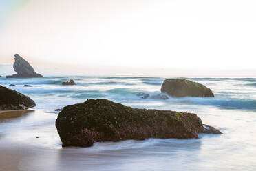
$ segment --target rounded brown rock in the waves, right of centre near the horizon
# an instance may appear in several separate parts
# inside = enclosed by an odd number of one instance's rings
[[[210,88],[186,79],[166,79],[161,92],[173,97],[214,97]]]

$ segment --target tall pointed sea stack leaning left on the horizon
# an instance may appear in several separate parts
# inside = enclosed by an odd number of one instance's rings
[[[17,74],[6,76],[6,78],[39,78],[43,77],[41,74],[37,74],[34,71],[34,68],[30,66],[30,63],[28,61],[25,61],[19,54],[14,55],[14,71],[17,72]]]

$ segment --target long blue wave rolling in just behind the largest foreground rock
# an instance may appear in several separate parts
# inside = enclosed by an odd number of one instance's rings
[[[114,88],[111,90],[83,90],[76,87],[63,88],[23,88],[23,87],[12,87],[12,89],[17,90],[23,94],[32,95],[33,97],[39,95],[40,97],[68,97],[71,99],[96,99],[96,98],[106,98],[112,99],[114,101],[141,101],[141,103],[147,103],[147,101],[162,101],[162,103],[167,103],[169,105],[211,105],[220,108],[230,108],[230,109],[244,109],[244,110],[256,110],[256,100],[255,99],[231,99],[226,96],[220,97],[169,97],[169,99],[156,99],[153,98],[160,92],[144,92],[149,94],[149,98],[142,99],[137,96],[138,93],[143,92],[136,88]],[[165,94],[167,95],[167,94]]]

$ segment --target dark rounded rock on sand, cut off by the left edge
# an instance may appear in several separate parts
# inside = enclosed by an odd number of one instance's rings
[[[0,86],[0,110],[24,110],[34,106],[36,104],[30,97]]]

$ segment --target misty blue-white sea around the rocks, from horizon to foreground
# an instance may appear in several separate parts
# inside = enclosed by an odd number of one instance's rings
[[[74,79],[76,85],[61,85],[69,79]],[[0,152],[3,148],[13,150],[15,145],[27,149],[29,152],[19,161],[19,170],[256,170],[255,78],[182,78],[211,88],[215,97],[163,100],[156,95],[161,94],[164,79],[167,78],[0,77],[0,85],[15,84],[8,88],[28,95],[36,103],[29,114],[1,121]],[[32,87],[23,87],[24,84]],[[149,98],[142,99],[138,93],[147,93]],[[62,148],[55,128],[58,112],[54,110],[87,99],[109,99],[134,108],[193,112],[203,123],[223,134],[200,134],[199,139],[127,140],[94,143],[90,148]],[[4,152],[8,158],[8,151]]]

